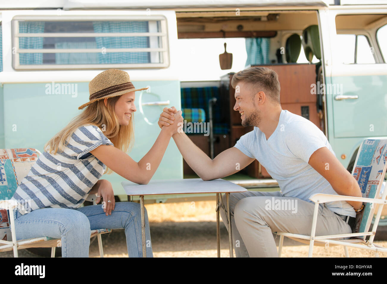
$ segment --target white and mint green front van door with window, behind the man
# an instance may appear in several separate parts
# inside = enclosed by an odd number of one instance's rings
[[[387,9],[341,6],[319,13],[327,134],[337,158],[348,168],[364,139],[387,134],[383,117],[387,112],[387,64],[376,37],[378,29],[387,24]]]

